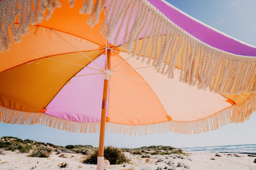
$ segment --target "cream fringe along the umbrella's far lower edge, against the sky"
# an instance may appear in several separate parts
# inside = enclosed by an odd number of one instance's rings
[[[230,106],[214,115],[197,121],[166,121],[150,125],[121,125],[106,122],[106,131],[124,135],[149,135],[151,133],[176,132],[183,134],[208,132],[217,130],[228,123],[240,123],[249,120],[256,110],[256,94],[244,104]],[[20,125],[41,124],[58,130],[78,133],[95,133],[100,131],[100,123],[82,123],[67,121],[42,113],[21,112],[0,106],[0,122]]]

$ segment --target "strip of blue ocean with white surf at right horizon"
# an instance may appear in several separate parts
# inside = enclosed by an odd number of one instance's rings
[[[206,151],[206,152],[230,152],[230,153],[249,153],[256,154],[256,144],[251,145],[227,145],[227,146],[209,146],[181,148],[183,151]]]

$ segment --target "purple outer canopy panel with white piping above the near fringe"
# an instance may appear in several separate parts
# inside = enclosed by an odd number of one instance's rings
[[[228,37],[228,35],[225,35],[188,16],[188,14],[185,14],[171,4],[163,0],[148,1],[180,28],[211,47],[237,55],[256,56],[255,47]]]

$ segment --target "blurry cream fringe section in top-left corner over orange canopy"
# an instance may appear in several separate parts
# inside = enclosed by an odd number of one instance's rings
[[[10,35],[14,43],[21,42],[21,37],[28,34],[28,25],[50,19],[56,7],[61,7],[58,0],[2,0],[0,1],[0,53],[11,46]],[[18,24],[15,24],[18,19]],[[11,30],[11,33],[9,33]]]

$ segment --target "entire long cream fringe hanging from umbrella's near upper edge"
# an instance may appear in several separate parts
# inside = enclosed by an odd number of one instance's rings
[[[72,7],[75,0],[68,2]],[[124,28],[122,44],[127,51],[139,56],[147,51],[149,60],[154,56],[153,65],[162,74],[173,78],[177,55],[181,54],[180,69],[183,71],[180,81],[222,94],[256,93],[255,57],[235,55],[210,47],[179,28],[146,0],[83,0],[80,13],[90,14],[87,23],[93,27],[99,22],[106,4],[101,33],[105,30],[105,38],[116,41]],[[60,7],[58,0],[0,1],[0,52],[11,45],[9,28],[14,42],[19,42],[21,36],[28,32],[29,24],[42,22],[46,11],[46,19],[49,19],[56,7]],[[134,22],[131,22],[131,16],[135,16]],[[14,26],[16,17],[18,27]],[[137,43],[140,37],[144,39],[139,48]],[[150,45],[150,42],[153,43]]]

